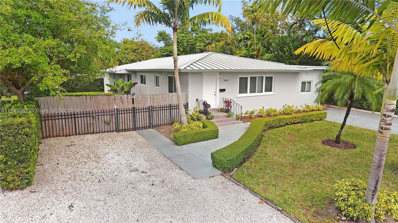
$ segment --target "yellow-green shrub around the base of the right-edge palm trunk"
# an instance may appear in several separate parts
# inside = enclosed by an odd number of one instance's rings
[[[398,218],[397,192],[379,190],[375,213],[372,213],[372,205],[367,204],[365,200],[365,182],[359,179],[344,179],[334,185],[334,192],[335,205],[347,219],[370,221],[372,217],[375,217],[383,221],[386,215]]]

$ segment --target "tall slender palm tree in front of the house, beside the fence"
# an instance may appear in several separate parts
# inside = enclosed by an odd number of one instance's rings
[[[136,27],[139,27],[141,23],[146,23],[151,26],[164,25],[172,29],[174,75],[176,76],[180,121],[182,124],[187,124],[178,76],[177,31],[179,27],[188,27],[189,25],[205,26],[213,24],[224,27],[232,35],[232,27],[228,17],[220,13],[221,0],[161,0],[160,8],[149,0],[109,0],[108,3],[110,2],[126,4],[127,7],[133,7],[134,9],[142,8],[143,10],[134,16]],[[213,5],[218,7],[218,12],[205,12],[189,17],[189,9],[198,4]]]

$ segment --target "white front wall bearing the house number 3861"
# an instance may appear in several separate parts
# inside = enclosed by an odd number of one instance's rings
[[[316,83],[322,70],[301,72],[220,72],[219,88],[225,88],[225,92],[219,94],[219,107],[222,107],[222,98],[231,98],[243,106],[242,112],[246,110],[263,108],[282,108],[285,104],[290,105],[314,105],[316,99]],[[273,94],[259,96],[239,96],[239,76],[248,75],[274,75]],[[228,80],[227,82],[224,81]],[[312,81],[311,92],[301,93],[301,82]]]

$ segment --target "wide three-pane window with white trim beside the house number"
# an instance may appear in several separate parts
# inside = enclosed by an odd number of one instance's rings
[[[273,93],[273,76],[239,77],[239,94]]]

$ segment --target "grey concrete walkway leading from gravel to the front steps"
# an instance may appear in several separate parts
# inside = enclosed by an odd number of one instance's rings
[[[219,138],[177,146],[154,129],[137,131],[164,156],[176,163],[195,179],[220,173],[211,163],[210,153],[238,140],[249,125],[238,123],[219,127]]]

